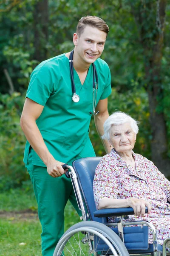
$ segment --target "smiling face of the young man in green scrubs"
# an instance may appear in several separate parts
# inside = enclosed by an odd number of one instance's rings
[[[80,37],[74,33],[73,41],[78,57],[85,63],[94,63],[103,52],[106,36],[105,32],[91,26],[85,26]]]

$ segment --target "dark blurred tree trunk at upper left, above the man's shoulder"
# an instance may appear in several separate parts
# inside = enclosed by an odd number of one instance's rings
[[[48,42],[48,0],[40,0],[34,9],[34,59],[43,61],[47,58]]]

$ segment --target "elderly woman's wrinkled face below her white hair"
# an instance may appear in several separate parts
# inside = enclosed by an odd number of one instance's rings
[[[125,122],[122,125],[112,125],[110,138],[113,148],[119,152],[128,152],[134,148],[136,134],[130,126],[130,123]]]

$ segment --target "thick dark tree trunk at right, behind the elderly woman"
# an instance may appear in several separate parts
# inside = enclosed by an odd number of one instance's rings
[[[144,4],[142,6],[142,4]],[[170,176],[170,160],[167,158],[167,131],[164,119],[163,89],[161,86],[161,58],[164,42],[164,23],[166,0],[141,2],[138,9],[133,9],[136,24],[139,29],[140,41],[144,49],[144,68],[149,98],[150,125],[152,129],[151,155],[153,163],[166,176]],[[153,9],[155,8],[155,9]],[[150,12],[148,12],[150,10]],[[155,19],[149,20],[149,15]],[[151,15],[150,15],[151,16]],[[150,26],[146,26],[150,22]],[[153,23],[153,21],[155,23]],[[153,23],[153,24],[152,24]],[[148,38],[152,33],[152,38]]]

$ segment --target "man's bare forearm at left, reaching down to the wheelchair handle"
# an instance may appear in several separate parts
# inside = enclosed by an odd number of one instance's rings
[[[45,145],[36,122],[33,119],[21,118],[20,125],[31,147],[36,151],[45,165],[47,165],[51,159],[54,160],[54,157],[50,154]]]

